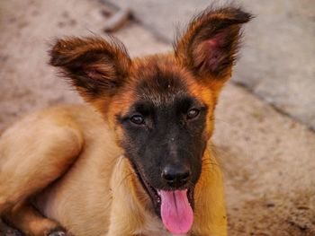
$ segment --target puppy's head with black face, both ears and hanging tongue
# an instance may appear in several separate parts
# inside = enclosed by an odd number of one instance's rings
[[[250,18],[234,7],[208,9],[166,55],[130,59],[112,38],[59,39],[51,50],[50,64],[63,69],[114,130],[171,232],[192,224],[213,110],[231,75],[241,24]]]

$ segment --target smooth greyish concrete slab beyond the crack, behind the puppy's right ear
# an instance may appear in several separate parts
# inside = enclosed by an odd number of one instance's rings
[[[216,5],[231,2],[103,1],[130,7],[139,22],[168,42],[174,39],[175,26],[188,22],[193,14],[212,2]],[[234,81],[245,84],[259,97],[315,129],[315,1],[237,2],[257,18],[247,26],[246,47]]]

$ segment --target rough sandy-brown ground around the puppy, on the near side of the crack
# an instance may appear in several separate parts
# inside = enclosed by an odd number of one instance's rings
[[[1,2],[0,133],[32,110],[82,102],[47,65],[46,51],[60,36],[104,36],[111,12],[96,0]],[[131,56],[171,48],[139,22],[114,35]],[[222,93],[216,118],[229,235],[315,235],[315,134],[234,83]]]

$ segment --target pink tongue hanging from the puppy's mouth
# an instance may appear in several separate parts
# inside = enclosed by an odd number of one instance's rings
[[[193,209],[188,202],[187,189],[158,191],[162,204],[161,216],[166,229],[173,234],[184,234],[193,225]]]

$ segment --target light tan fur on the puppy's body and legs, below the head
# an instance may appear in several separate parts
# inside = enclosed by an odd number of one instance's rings
[[[40,133],[30,134],[31,130],[45,131],[45,137],[41,134],[38,138]],[[56,146],[49,151],[47,148],[51,144]],[[50,184],[32,201],[41,213],[69,232],[76,236],[170,235],[157,215],[148,209],[147,194],[129,162],[121,156],[120,148],[112,142],[109,128],[94,109],[71,106],[35,113],[4,132],[0,150],[0,199],[3,203],[11,199],[10,204],[15,205],[39,192],[67,169],[61,179]],[[23,162],[24,158],[27,158],[26,162]],[[216,163],[210,148],[203,159]],[[69,167],[65,162],[74,163]],[[35,164],[40,164],[40,168]],[[59,173],[51,173],[53,170],[59,170]],[[3,209],[4,206],[0,211]],[[194,214],[195,223],[190,235],[226,235],[222,179],[216,164],[205,165],[202,170],[195,188]],[[19,218],[18,215],[15,217]],[[23,232],[29,232],[28,227],[34,229],[36,226],[32,225],[36,223],[43,223],[41,217],[24,217],[24,222],[16,221],[16,218],[10,217]],[[55,223],[51,225],[56,226]]]

